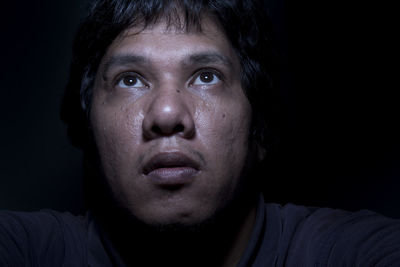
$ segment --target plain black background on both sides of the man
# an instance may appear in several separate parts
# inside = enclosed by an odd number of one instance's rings
[[[86,1],[1,3],[0,209],[83,210],[59,105]],[[399,217],[398,61],[384,2],[266,1],[282,53],[274,202]]]

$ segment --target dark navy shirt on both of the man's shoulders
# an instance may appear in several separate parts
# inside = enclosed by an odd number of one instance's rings
[[[90,213],[0,213],[0,266],[124,266]],[[400,220],[260,201],[239,266],[400,266]]]

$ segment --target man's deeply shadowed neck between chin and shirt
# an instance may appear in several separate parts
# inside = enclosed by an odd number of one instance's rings
[[[235,266],[250,238],[257,201],[235,202],[212,222],[190,229],[160,231],[122,213],[101,224],[129,266]]]

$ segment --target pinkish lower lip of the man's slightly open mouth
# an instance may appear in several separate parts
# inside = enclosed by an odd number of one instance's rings
[[[158,185],[183,185],[193,180],[198,170],[190,167],[159,168],[147,174]]]

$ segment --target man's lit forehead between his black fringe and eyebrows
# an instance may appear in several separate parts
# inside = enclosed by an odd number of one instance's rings
[[[166,21],[128,28],[110,45],[103,63],[127,55],[153,62],[183,60],[195,54],[213,55],[239,69],[239,61],[223,29],[212,18],[204,18],[201,30],[184,29]]]

